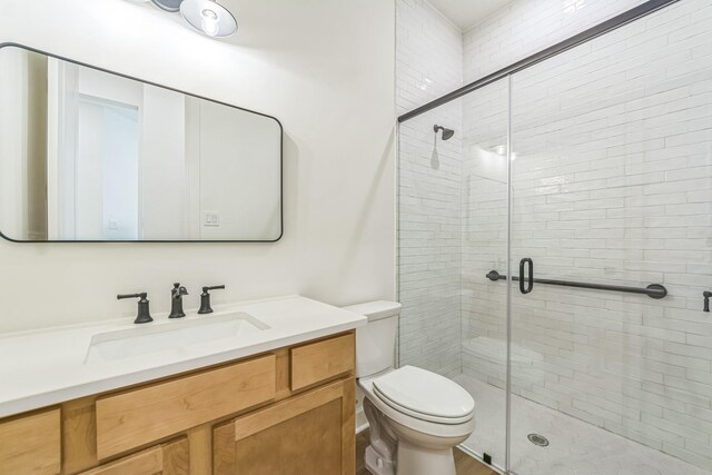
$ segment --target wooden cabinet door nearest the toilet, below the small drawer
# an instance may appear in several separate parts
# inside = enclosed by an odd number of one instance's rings
[[[214,431],[216,475],[353,475],[355,379],[339,380]]]

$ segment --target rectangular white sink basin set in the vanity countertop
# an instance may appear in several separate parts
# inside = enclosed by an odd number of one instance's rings
[[[267,328],[269,326],[251,315],[237,311],[106,331],[91,337],[85,364],[157,353],[180,356],[202,347],[215,350]]]

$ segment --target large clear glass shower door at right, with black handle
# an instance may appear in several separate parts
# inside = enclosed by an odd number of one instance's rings
[[[712,471],[710,31],[682,1],[511,78],[514,473]]]

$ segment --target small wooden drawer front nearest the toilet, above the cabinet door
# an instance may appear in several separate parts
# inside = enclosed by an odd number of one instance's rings
[[[354,370],[354,334],[291,348],[291,390]]]

